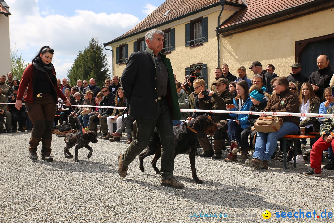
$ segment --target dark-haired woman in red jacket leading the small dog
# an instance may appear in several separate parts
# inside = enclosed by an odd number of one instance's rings
[[[48,46],[40,48],[32,63],[23,72],[15,103],[15,107],[20,110],[24,90],[29,85],[24,101],[27,114],[34,125],[29,141],[29,157],[32,160],[37,160],[37,146],[41,140],[42,160],[53,160],[50,154],[57,95],[70,104],[57,86],[56,72],[51,64],[53,51]]]

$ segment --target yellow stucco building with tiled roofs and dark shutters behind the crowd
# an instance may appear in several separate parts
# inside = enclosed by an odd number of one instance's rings
[[[208,84],[214,81],[214,69],[223,63],[235,76],[239,66],[249,67],[253,61],[260,61],[263,69],[273,64],[278,76],[288,76],[290,66],[299,62],[308,74],[316,70],[319,54],[327,53],[333,67],[333,19],[334,2],[324,0],[190,0],[187,4],[166,0],[133,29],[104,45],[113,49],[113,75],[119,77],[130,54],[146,48],[145,33],[153,28],[166,33],[163,52],[179,82],[194,64],[203,65]],[[251,70],[247,74],[253,77]]]

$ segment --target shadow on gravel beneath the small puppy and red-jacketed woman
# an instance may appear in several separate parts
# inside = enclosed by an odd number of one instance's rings
[[[80,160],[74,162],[69,159],[68,162],[52,161],[52,162],[38,162],[38,164],[48,166],[50,171],[68,171],[76,173],[113,173],[118,174],[115,170],[115,165],[104,164],[102,162],[94,162],[87,160]]]

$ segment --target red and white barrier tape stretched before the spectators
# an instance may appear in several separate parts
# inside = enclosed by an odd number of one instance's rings
[[[0,103],[14,104],[14,103]],[[24,104],[23,104],[24,105]],[[126,107],[118,106],[100,106],[100,105],[72,105],[73,107],[90,107],[90,108],[117,108],[125,109]],[[316,113],[289,113],[289,112],[251,112],[251,111],[226,111],[226,110],[203,110],[203,109],[180,109],[181,112],[203,112],[203,113],[227,113],[227,114],[246,114],[246,115],[276,115],[289,117],[313,117],[313,118],[334,118],[334,114],[316,114]]]

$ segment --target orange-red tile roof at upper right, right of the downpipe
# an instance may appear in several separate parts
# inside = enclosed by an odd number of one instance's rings
[[[283,10],[291,9],[312,2],[325,2],[321,0],[245,0],[247,7],[242,8],[232,18],[219,28],[245,23],[259,19]]]

